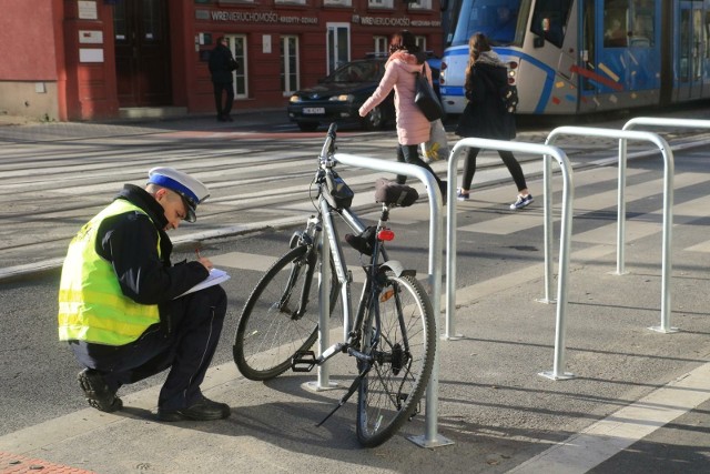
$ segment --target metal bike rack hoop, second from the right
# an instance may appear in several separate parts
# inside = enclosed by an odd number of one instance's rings
[[[670,119],[668,119],[670,122]],[[673,222],[673,152],[663,138],[651,132],[635,132],[629,130],[598,129],[587,127],[559,127],[552,130],[545,143],[554,143],[562,134],[602,137],[619,139],[619,189],[618,189],[618,212],[617,212],[617,272],[625,273],[625,248],[626,248],[626,163],[627,163],[627,140],[639,140],[655,143],[663,155],[663,236],[662,236],[662,269],[661,269],[661,325],[651,327],[653,331],[662,333],[673,333],[678,329],[670,326],[670,271],[671,271],[671,229]],[[545,199],[548,200],[550,192],[550,178],[545,173]],[[547,203],[545,209],[547,209]],[[546,214],[545,220],[545,288],[549,291],[552,280],[552,263],[548,258],[551,253],[551,238],[547,229],[552,228],[552,218]]]

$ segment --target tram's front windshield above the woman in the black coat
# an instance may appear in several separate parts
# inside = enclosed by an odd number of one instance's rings
[[[486,34],[493,46],[523,44],[529,3],[530,0],[463,0],[450,46],[467,44],[477,32]]]

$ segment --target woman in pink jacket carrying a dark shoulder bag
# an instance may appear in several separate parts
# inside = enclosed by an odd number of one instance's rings
[[[404,30],[396,33],[389,43],[389,59],[385,64],[385,75],[372,97],[359,108],[359,117],[365,117],[395,90],[395,111],[397,114],[397,161],[416,164],[428,170],[446,198],[446,182],[426,164],[418,153],[419,144],[429,140],[429,121],[414,103],[415,72],[425,73],[432,83],[432,70],[424,61],[414,34]],[[397,175],[397,183],[404,184],[407,177]]]

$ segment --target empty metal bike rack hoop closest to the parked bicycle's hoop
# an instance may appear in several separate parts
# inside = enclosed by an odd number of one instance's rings
[[[559,279],[558,279],[558,297],[557,304],[557,327],[555,331],[555,361],[552,372],[542,372],[552,380],[570,379],[574,375],[565,372],[565,337],[566,337],[566,314],[567,314],[567,275],[569,274],[569,244],[571,236],[572,222],[572,175],[569,160],[564,151],[556,147],[542,145],[537,143],[511,142],[503,140],[488,140],[468,138],[459,140],[452,150],[448,160],[447,178],[449,186],[447,190],[447,214],[448,221],[446,225],[446,339],[455,339],[454,335],[454,312],[456,311],[456,195],[454,194],[457,174],[457,162],[460,151],[464,148],[478,148],[487,150],[517,151],[523,153],[534,153],[545,157],[545,175],[549,172],[550,155],[557,159],[562,171],[562,215],[560,226],[560,245],[559,245]],[[551,220],[551,198],[549,192],[545,192],[545,215]],[[551,232],[551,226],[549,228]],[[545,228],[546,240],[548,228]],[[547,258],[547,254],[546,254]]]

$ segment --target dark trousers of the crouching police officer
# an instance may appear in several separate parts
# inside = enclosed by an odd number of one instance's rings
[[[77,360],[99,371],[112,391],[170,369],[158,406],[191,406],[202,397],[200,385],[220,341],[226,293],[222,286],[210,286],[161,305],[161,313],[165,310],[170,331],[155,324],[135,342],[121,346],[72,341]]]

